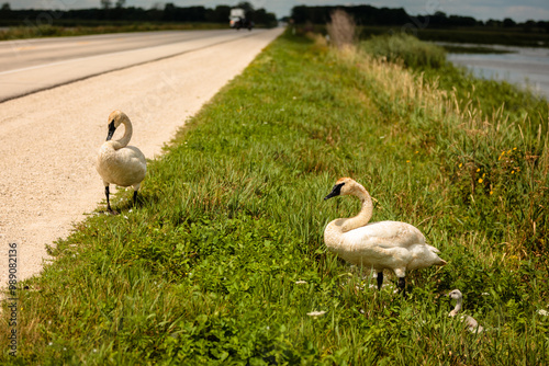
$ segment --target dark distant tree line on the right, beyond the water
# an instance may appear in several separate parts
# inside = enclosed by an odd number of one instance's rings
[[[358,25],[405,25],[415,24],[419,27],[448,28],[448,27],[502,27],[520,28],[526,32],[538,31],[549,33],[549,21],[526,21],[517,23],[507,18],[503,21],[480,21],[472,16],[447,15],[437,11],[432,15],[410,15],[403,8],[376,8],[371,5],[355,7],[306,7],[299,5],[292,9],[291,19],[298,24],[313,23],[326,24],[330,20],[330,13],[336,9],[343,9],[352,18]]]

